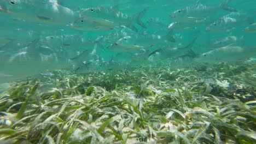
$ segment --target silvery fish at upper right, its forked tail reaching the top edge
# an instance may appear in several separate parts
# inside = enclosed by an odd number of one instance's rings
[[[170,18],[177,22],[190,23],[194,21],[202,21],[207,17],[216,14],[216,12],[219,10],[236,12],[237,10],[235,8],[228,7],[228,3],[228,0],[217,6],[206,6],[197,3],[196,5],[173,11],[173,13],[170,15]]]

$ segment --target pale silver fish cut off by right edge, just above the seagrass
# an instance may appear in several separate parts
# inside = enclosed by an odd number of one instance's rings
[[[216,62],[237,62],[246,61],[251,57],[255,57],[256,47],[241,47],[236,45],[228,45],[217,49],[201,53],[195,59],[198,62],[216,63]]]

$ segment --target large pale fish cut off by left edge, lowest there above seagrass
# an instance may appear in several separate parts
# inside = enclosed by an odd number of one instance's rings
[[[19,47],[16,51],[4,51],[0,53],[0,71],[8,76],[0,77],[0,83],[25,79],[44,73],[47,70],[67,68],[67,59],[59,59],[56,53],[45,55],[44,49],[38,46],[38,39],[25,47]]]

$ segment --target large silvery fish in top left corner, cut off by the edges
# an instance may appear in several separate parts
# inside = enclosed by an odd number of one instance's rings
[[[2,14],[49,25],[70,25],[80,17],[78,12],[57,4],[57,1],[1,0],[0,7]]]

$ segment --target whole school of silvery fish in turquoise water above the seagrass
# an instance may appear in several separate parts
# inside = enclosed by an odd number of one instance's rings
[[[256,56],[254,3],[0,0],[0,83],[56,69],[246,61]]]

